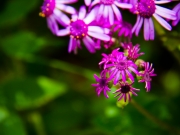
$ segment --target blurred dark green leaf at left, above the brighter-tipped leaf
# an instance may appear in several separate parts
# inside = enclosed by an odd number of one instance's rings
[[[22,31],[2,40],[2,49],[10,56],[24,58],[31,56],[45,45],[43,38],[34,33]]]

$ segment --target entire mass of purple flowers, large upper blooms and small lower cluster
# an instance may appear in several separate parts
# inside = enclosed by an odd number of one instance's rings
[[[134,33],[139,35],[143,26],[144,39],[154,40],[153,17],[165,29],[172,30],[180,21],[180,3],[172,10],[160,6],[172,0],[84,0],[79,10],[67,5],[76,2],[78,0],[44,0],[39,15],[47,18],[54,35],[70,37],[69,53],[77,53],[82,45],[90,53],[95,53],[101,46],[113,49],[111,54],[102,54],[100,77],[94,75],[97,95],[103,92],[108,98],[112,82],[118,87],[114,92],[119,96],[118,100],[130,100],[131,95],[137,95],[136,91],[139,91],[132,86],[136,78],[138,82],[145,82],[146,90],[150,91],[151,77],[156,74],[149,62],[137,64],[144,53],[139,53],[140,45],[133,45],[131,39]],[[137,16],[134,25],[123,19],[123,10]]]

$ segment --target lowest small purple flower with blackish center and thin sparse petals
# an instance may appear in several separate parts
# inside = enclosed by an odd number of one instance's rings
[[[139,89],[133,88],[132,84],[127,82],[120,82],[120,88],[114,93],[118,93],[115,97],[119,96],[118,101],[124,98],[124,101],[131,100],[131,94],[137,96],[135,91],[140,91]]]

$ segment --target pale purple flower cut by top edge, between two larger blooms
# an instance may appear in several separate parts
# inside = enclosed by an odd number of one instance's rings
[[[119,0],[94,0],[90,7],[97,5],[97,21],[101,18],[107,19],[108,22],[113,25],[114,24],[114,16],[117,20],[122,20],[122,15],[117,7],[131,9],[132,5],[128,3],[119,2]]]

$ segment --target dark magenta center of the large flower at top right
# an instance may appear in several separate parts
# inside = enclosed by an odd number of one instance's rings
[[[154,0],[139,0],[137,13],[144,18],[150,18],[155,12]]]

